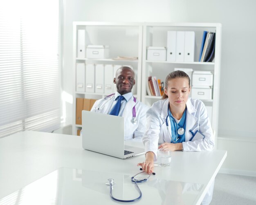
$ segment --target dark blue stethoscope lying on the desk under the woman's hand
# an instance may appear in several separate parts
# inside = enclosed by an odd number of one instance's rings
[[[142,168],[140,168],[139,170],[142,170]],[[144,172],[144,171],[143,171]],[[112,195],[112,189],[113,189],[113,185],[114,185],[114,179],[108,179],[108,182],[106,183],[106,185],[109,185],[109,194],[110,194],[110,197],[112,199],[114,199],[115,201],[120,201],[120,202],[133,202],[133,201],[138,201],[141,196],[142,196],[142,193],[141,193],[141,190],[139,189],[137,183],[142,183],[142,182],[145,182],[149,179],[149,177],[151,176],[151,174],[155,175],[155,172],[153,173],[150,173],[148,175],[147,178],[145,179],[135,179],[135,176],[143,173],[143,172],[139,172],[138,174],[135,174],[134,176],[131,177],[131,181],[135,184],[135,187],[137,188],[138,192],[139,192],[139,196],[135,199],[131,199],[131,200],[122,200],[122,199],[118,199],[118,198],[115,198],[113,195]]]

